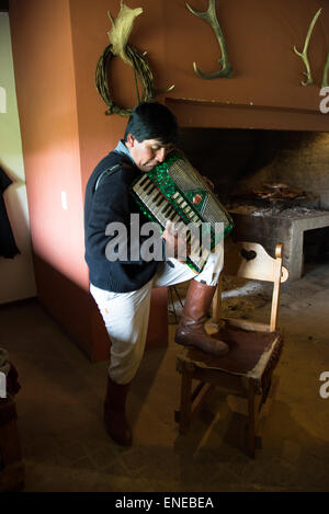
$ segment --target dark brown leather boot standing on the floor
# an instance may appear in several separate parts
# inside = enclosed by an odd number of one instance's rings
[[[132,430],[126,420],[128,389],[129,384],[116,384],[107,377],[104,423],[110,437],[123,446],[131,446],[133,442]]]

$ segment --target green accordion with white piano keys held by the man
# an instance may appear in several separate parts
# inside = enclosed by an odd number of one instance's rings
[[[143,213],[161,229],[168,220],[189,228],[186,238],[191,252],[186,264],[196,273],[203,270],[209,252],[232,229],[230,216],[212,189],[178,150],[133,182],[131,192]]]

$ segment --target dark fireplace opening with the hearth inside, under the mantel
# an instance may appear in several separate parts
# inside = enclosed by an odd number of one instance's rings
[[[232,239],[260,242],[273,256],[283,242],[290,281],[311,254],[326,262],[329,133],[182,128],[180,147],[214,183],[234,218]]]

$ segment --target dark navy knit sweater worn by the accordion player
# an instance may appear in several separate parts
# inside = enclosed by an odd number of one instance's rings
[[[115,171],[103,175],[95,189],[100,175],[113,168]],[[90,283],[101,289],[114,293],[137,290],[149,282],[157,271],[159,262],[146,262],[140,258],[138,261],[131,261],[129,252],[125,262],[111,262],[105,254],[106,244],[113,238],[105,235],[109,224],[120,221],[125,225],[129,248],[131,214],[140,215],[140,226],[149,221],[129,193],[132,182],[140,173],[127,156],[114,150],[101,160],[88,181],[84,198],[84,256],[89,266]],[[141,237],[140,243],[145,238]]]

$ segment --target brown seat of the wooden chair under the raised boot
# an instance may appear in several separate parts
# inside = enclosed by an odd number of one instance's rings
[[[228,344],[227,355],[217,357],[191,346],[185,347],[178,359],[181,364],[184,362],[203,370],[212,370],[213,375],[223,372],[253,379],[256,392],[261,393],[279,362],[283,345],[281,334],[225,327],[216,338]]]

